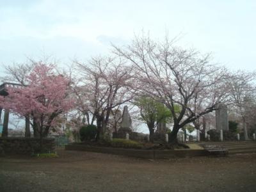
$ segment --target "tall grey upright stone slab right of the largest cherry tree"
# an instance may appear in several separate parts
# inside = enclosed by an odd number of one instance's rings
[[[228,108],[227,106],[218,105],[215,112],[216,115],[216,129],[228,131]]]

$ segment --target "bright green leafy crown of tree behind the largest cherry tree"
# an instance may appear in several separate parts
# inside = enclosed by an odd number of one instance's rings
[[[141,120],[149,122],[170,122],[172,113],[163,103],[157,102],[150,97],[140,97],[136,99],[135,105],[140,108]],[[175,111],[179,111],[179,106],[175,106]]]

